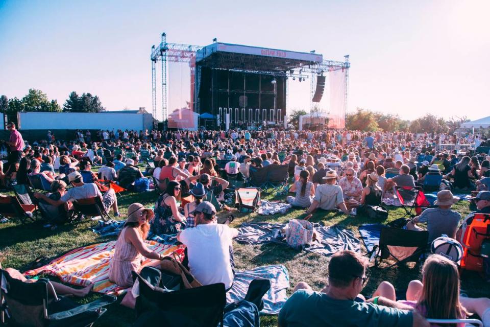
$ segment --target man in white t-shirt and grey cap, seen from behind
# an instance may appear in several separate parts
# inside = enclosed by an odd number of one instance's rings
[[[218,224],[216,209],[211,202],[201,202],[193,212],[195,227],[177,234],[177,240],[187,247],[190,273],[202,285],[233,285],[234,261],[232,239],[238,230]]]

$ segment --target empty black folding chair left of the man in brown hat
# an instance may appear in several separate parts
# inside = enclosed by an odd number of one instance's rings
[[[393,227],[381,228],[379,244],[373,249],[371,260],[376,267],[386,259],[396,262],[391,268],[403,262],[418,262],[427,250],[429,232],[427,230],[407,230]]]

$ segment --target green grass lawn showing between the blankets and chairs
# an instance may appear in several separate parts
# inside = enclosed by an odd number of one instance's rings
[[[128,206],[133,202],[140,202],[148,206],[154,205],[157,196],[155,192],[143,194],[126,194],[119,199],[120,212],[126,214]],[[469,213],[468,202],[460,201],[453,207],[464,217]],[[391,207],[387,221],[394,220],[403,216],[403,209]],[[267,221],[282,222],[292,218],[304,217],[303,211],[295,210],[286,215],[258,216],[253,214],[234,213],[235,221],[231,226],[239,226],[242,222]],[[224,214],[219,215],[224,216]],[[223,218],[223,217],[221,217]],[[349,228],[359,237],[357,227],[370,221],[363,217],[347,218],[343,214],[316,213],[312,222],[323,221],[326,225],[338,224],[341,227]],[[386,221],[386,222],[387,222]],[[100,243],[112,240],[113,238],[100,238],[89,228],[95,222],[86,220],[76,225],[65,225],[56,230],[42,228],[39,224],[28,224],[22,226],[19,221],[0,224],[0,260],[4,267],[12,267],[22,271],[22,269],[40,255],[47,257],[58,256],[70,249],[85,246],[92,243]],[[363,245],[362,251],[365,252]],[[278,244],[266,245],[240,245],[234,242],[235,263],[238,270],[249,269],[262,265],[282,264],[287,267],[291,279],[292,287],[304,281],[309,283],[314,289],[320,290],[326,286],[328,258],[316,253],[298,251]],[[420,266],[415,264],[402,265],[401,267],[386,270],[372,268],[367,272],[369,281],[362,291],[365,296],[370,296],[381,281],[389,281],[395,285],[400,297],[404,297],[404,292],[408,283],[415,278],[420,278]],[[291,290],[290,289],[290,290]],[[490,284],[484,283],[475,274],[465,274],[462,279],[462,289],[472,297],[488,296],[490,294]],[[290,292],[289,290],[289,292]],[[96,298],[93,294],[82,301],[90,301]],[[189,299],[191,300],[191,299]],[[120,299],[119,299],[120,301]],[[108,307],[108,311],[99,319],[94,326],[130,326],[133,321],[131,310],[119,306],[117,303]],[[261,325],[276,326],[276,316],[262,316]]]

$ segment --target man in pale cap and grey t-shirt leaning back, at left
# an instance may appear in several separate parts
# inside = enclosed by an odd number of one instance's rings
[[[68,175],[68,181],[71,185],[73,185],[73,187],[66,190],[66,193],[59,200],[48,198],[42,193],[34,193],[34,197],[36,199],[43,199],[51,205],[60,206],[67,201],[77,201],[99,196],[102,199],[102,204],[104,205],[106,212],[109,212],[112,208],[114,211],[114,216],[119,216],[117,198],[113,189],[109,189],[109,191],[102,195],[101,191],[99,191],[99,188],[97,188],[97,185],[94,183],[85,184],[83,182],[82,175],[79,172],[70,173]]]

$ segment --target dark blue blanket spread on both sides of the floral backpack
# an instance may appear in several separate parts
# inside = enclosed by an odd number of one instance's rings
[[[241,244],[286,244],[285,238],[280,235],[286,223],[244,223],[238,228],[235,240]],[[322,226],[313,224],[316,232],[316,241],[307,245],[304,250],[330,256],[342,250],[360,251],[360,242],[354,233],[338,226]]]

